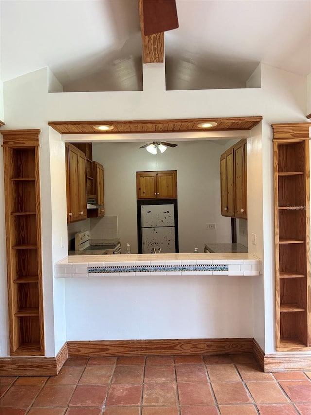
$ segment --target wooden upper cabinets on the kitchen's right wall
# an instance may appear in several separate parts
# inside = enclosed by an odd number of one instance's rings
[[[247,219],[246,140],[220,157],[221,215]]]

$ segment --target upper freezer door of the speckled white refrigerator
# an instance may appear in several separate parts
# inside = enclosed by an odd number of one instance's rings
[[[175,226],[174,205],[141,206],[141,227]]]

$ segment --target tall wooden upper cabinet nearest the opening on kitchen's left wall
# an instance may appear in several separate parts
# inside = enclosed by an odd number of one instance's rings
[[[69,222],[87,218],[86,209],[86,156],[74,145],[67,147],[67,217]]]

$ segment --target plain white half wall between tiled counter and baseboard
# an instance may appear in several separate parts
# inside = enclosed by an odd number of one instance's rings
[[[232,276],[67,278],[67,340],[253,337],[252,286]]]

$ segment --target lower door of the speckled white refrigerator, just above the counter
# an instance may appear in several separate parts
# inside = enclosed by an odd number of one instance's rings
[[[175,227],[142,228],[142,253],[175,253]]]

